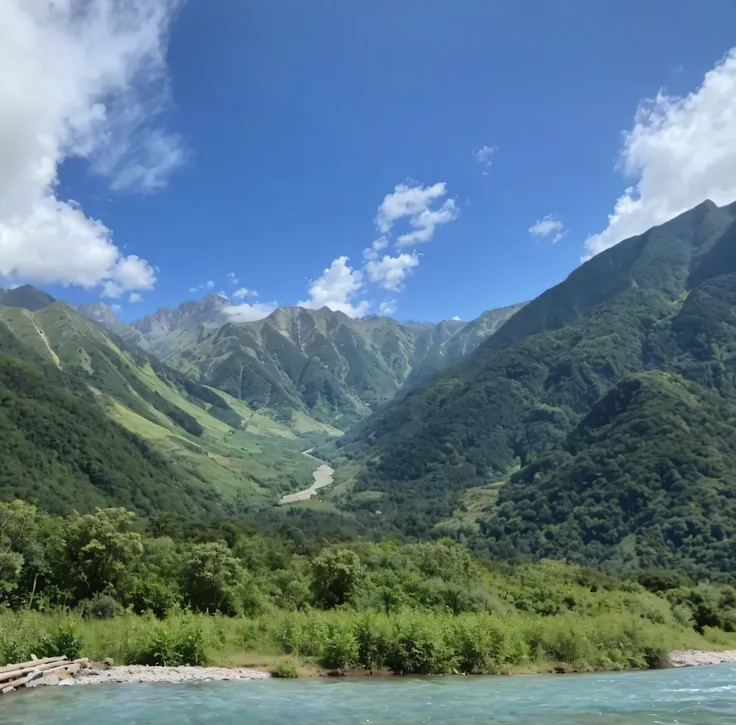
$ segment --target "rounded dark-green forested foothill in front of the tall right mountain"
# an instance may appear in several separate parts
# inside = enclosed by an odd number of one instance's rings
[[[500,490],[494,553],[736,573],[736,407],[678,376],[613,387],[560,450]]]

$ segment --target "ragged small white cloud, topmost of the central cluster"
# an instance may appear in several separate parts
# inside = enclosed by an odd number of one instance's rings
[[[386,194],[376,214],[376,227],[381,234],[388,234],[394,224],[408,217],[414,232],[399,237],[400,244],[427,242],[432,238],[435,227],[457,218],[458,209],[452,199],[448,199],[438,210],[432,204],[447,193],[444,181],[432,186],[397,184],[393,194]]]

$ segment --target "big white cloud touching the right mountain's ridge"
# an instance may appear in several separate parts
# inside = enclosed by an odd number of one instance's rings
[[[736,49],[685,97],[660,91],[639,105],[618,167],[633,180],[585,258],[691,209],[736,198]]]

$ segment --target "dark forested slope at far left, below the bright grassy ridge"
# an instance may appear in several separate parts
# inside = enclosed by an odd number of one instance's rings
[[[217,511],[203,488],[111,421],[81,381],[44,363],[0,322],[3,500],[20,497],[55,513],[105,505]]]

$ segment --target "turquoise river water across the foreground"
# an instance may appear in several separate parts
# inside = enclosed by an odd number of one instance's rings
[[[608,675],[265,680],[46,687],[5,725],[734,725],[736,667]]]

